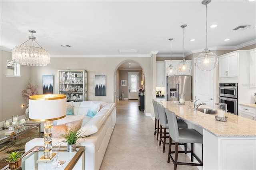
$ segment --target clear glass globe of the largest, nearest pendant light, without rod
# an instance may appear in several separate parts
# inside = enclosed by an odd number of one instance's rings
[[[196,58],[196,65],[202,71],[211,71],[218,64],[218,57],[212,51],[204,51]]]

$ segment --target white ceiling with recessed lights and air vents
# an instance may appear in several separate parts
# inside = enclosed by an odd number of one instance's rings
[[[201,0],[1,0],[1,49],[13,49],[36,30],[36,41],[51,57],[123,55],[183,56],[205,48],[205,5]],[[237,49],[256,43],[256,1],[212,0],[208,4],[208,48]],[[217,24],[216,28],[209,28]],[[232,31],[239,25],[251,25]],[[190,39],[196,39],[190,42]],[[224,41],[229,38],[230,41]],[[61,45],[70,45],[64,48]],[[119,49],[138,49],[120,53]]]

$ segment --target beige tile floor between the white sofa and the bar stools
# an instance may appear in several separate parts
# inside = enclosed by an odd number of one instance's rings
[[[154,136],[154,121],[139,111],[137,100],[118,101],[116,125],[100,170],[172,170],[172,161],[167,163],[168,145],[164,153],[162,147]],[[190,161],[185,154],[179,154],[178,161],[184,160]],[[198,170],[184,165],[177,169]]]

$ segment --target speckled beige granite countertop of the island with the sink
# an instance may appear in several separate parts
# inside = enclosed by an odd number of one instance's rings
[[[193,108],[188,109],[189,101],[186,101],[185,105],[178,105],[177,101],[162,101],[162,103],[164,107],[169,111],[174,112],[181,119],[202,127],[214,136],[256,137],[256,121],[233,115],[231,113],[228,113],[228,121],[216,121],[215,115],[208,115],[200,111],[193,111]],[[207,107],[204,106],[202,108]]]

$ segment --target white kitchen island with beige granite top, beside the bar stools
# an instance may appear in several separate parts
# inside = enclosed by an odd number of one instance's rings
[[[256,169],[256,121],[230,113],[228,121],[216,121],[215,115],[188,109],[188,101],[185,105],[173,101],[162,104],[184,120],[188,128],[203,135],[203,156],[198,156],[203,157],[204,170]],[[200,152],[201,148],[195,147],[195,153]]]

